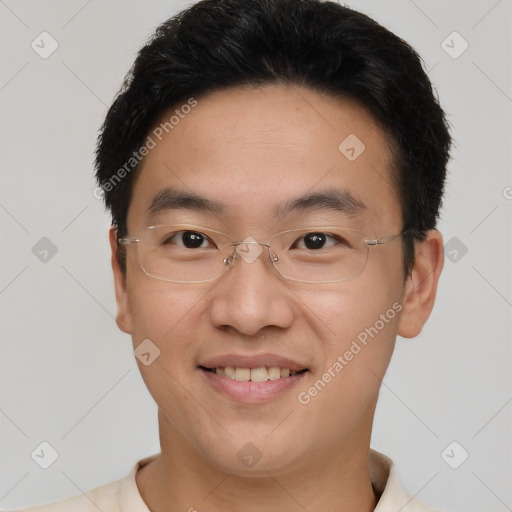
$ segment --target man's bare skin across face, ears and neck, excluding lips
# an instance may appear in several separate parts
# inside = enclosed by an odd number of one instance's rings
[[[349,134],[366,146],[353,162],[338,150]],[[276,225],[273,209],[331,187],[366,205],[365,214],[350,221],[360,231],[370,238],[395,235],[402,223],[390,169],[383,131],[355,103],[283,85],[210,93],[141,163],[128,235],[147,224],[152,198],[170,185],[226,203],[223,214],[178,213],[187,222],[229,230],[234,240],[268,241],[290,224],[329,225],[338,214],[295,213]],[[150,510],[373,510],[369,450],[379,388],[397,334],[418,335],[432,310],[443,266],[440,233],[431,231],[417,245],[406,280],[397,239],[371,247],[359,277],[321,285],[280,278],[264,258],[266,249],[217,281],[178,284],[144,274],[135,246],[128,246],[124,275],[116,236],[112,228],[117,324],[134,347],[149,338],[161,351],[149,366],[138,361],[159,409],[161,455],[136,475]],[[397,302],[401,312],[301,404],[297,394]],[[309,372],[298,386],[259,405],[220,395],[197,368],[218,354],[265,352],[300,361]],[[237,457],[247,443],[261,452],[252,467]]]

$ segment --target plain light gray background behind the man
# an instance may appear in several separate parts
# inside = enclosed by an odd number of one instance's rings
[[[159,449],[156,406],[114,322],[92,153],[136,51],[187,4],[0,0],[0,508],[86,491]],[[433,506],[512,510],[512,0],[349,5],[420,52],[456,139],[440,224],[450,257],[423,333],[397,342],[373,447]],[[43,31],[59,45],[46,59],[31,47]],[[457,58],[453,31],[469,44]],[[46,262],[43,237],[57,249]],[[58,452],[46,470],[31,458],[43,441]]]

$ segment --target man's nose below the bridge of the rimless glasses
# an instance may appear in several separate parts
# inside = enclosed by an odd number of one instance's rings
[[[211,291],[215,327],[256,336],[269,327],[291,326],[293,295],[268,261],[264,245],[248,237],[236,246],[230,270]]]

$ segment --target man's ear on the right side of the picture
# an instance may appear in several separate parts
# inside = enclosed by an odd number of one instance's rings
[[[415,247],[415,261],[404,286],[398,334],[414,338],[428,320],[436,298],[437,284],[444,265],[443,237],[433,229]]]

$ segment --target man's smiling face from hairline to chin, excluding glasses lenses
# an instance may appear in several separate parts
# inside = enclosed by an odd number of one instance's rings
[[[390,152],[363,108],[284,86],[197,100],[143,160],[128,236],[183,223],[234,241],[268,242],[308,226],[339,225],[369,239],[400,233]],[[154,198],[169,187],[218,208],[182,204],[149,218]],[[328,193],[359,207],[319,199]],[[286,210],[312,194],[316,206]],[[311,467],[333,450],[369,444],[380,381],[413,287],[404,285],[400,239],[370,247],[358,277],[321,284],[280,277],[260,247],[260,257],[237,258],[215,281],[184,284],[146,275],[135,245],[126,247],[124,277],[113,244],[118,325],[134,347],[149,339],[160,350],[151,364],[138,364],[159,407],[163,443],[240,474]],[[298,373],[239,382],[205,369],[217,366],[237,367],[241,378],[261,366]],[[253,465],[247,456],[260,458]]]

